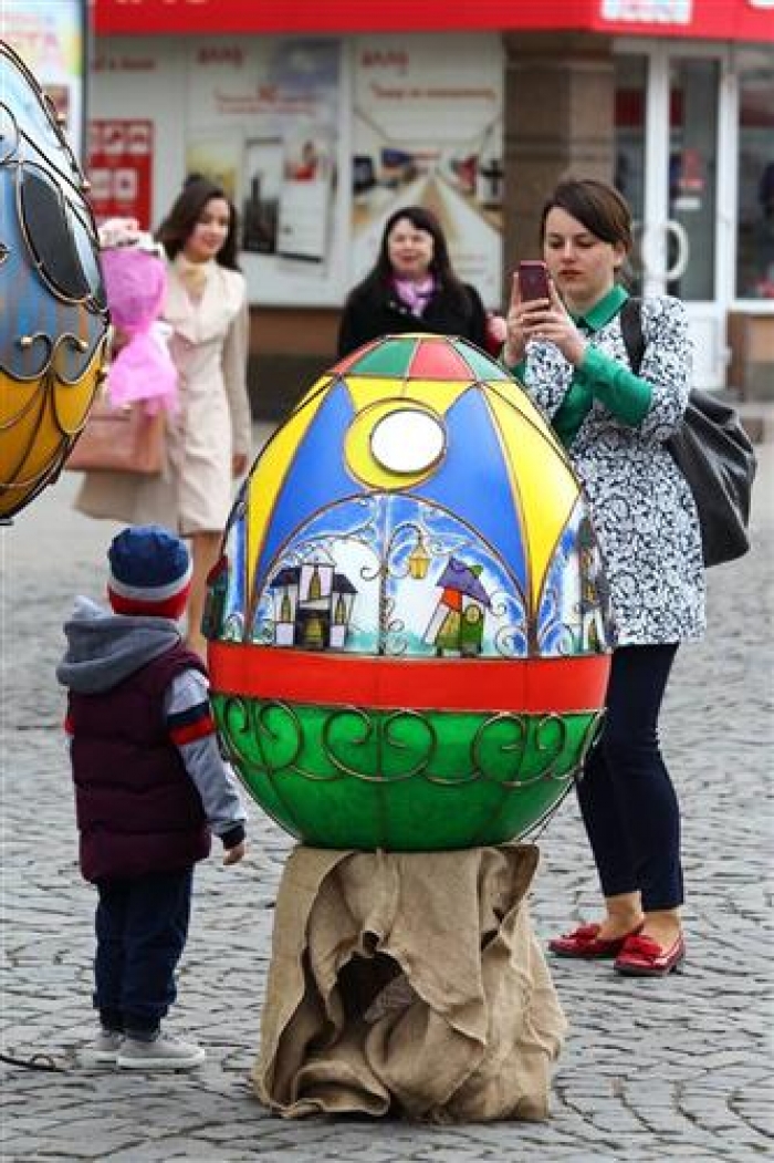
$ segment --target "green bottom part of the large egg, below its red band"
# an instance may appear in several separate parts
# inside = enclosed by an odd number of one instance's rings
[[[324,707],[212,694],[260,807],[320,848],[439,851],[518,840],[557,807],[600,712]]]

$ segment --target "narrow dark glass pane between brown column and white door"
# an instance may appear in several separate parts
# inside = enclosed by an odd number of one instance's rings
[[[616,59],[615,184],[635,219],[635,254],[629,272],[630,290],[642,293],[638,242],[645,217],[645,57]]]

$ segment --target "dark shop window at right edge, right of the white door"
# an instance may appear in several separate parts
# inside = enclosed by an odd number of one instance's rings
[[[774,299],[774,50],[739,65],[737,295]]]

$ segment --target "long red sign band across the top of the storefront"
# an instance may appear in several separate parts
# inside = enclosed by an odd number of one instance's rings
[[[89,0],[99,35],[524,29],[774,42],[772,0]]]

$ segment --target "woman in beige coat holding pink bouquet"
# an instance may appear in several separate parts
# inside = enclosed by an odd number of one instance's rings
[[[151,479],[89,473],[76,505],[92,516],[166,525],[191,538],[188,644],[203,655],[206,579],[217,557],[234,479],[246,472],[250,456],[248,306],[236,263],[236,211],[220,186],[191,178],[157,237],[170,261],[164,320],[179,376],[179,406],[167,421],[166,469]]]

